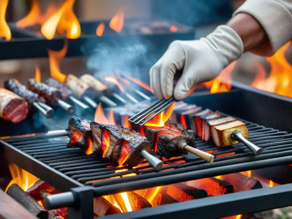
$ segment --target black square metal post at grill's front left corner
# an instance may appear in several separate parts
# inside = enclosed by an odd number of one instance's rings
[[[68,207],[67,213],[70,219],[93,218],[93,190],[91,186],[72,188],[74,205]]]

